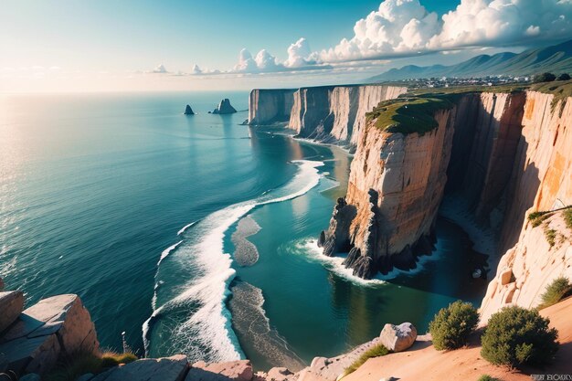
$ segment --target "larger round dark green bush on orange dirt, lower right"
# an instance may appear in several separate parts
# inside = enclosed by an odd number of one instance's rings
[[[505,307],[491,316],[481,337],[481,355],[494,365],[549,363],[558,350],[558,332],[548,323],[535,310]]]

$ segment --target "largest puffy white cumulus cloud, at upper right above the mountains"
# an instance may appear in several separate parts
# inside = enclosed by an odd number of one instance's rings
[[[324,61],[492,47],[572,34],[570,0],[461,0],[439,17],[419,0],[386,0],[358,20],[354,36],[323,49]]]

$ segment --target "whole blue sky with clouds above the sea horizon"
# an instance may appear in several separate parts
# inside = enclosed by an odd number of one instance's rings
[[[355,83],[572,36],[572,0],[5,0],[0,91]]]

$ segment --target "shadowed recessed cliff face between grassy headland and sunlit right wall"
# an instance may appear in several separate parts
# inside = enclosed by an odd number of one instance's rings
[[[448,188],[461,193],[477,220],[498,228],[499,206],[513,172],[522,132],[525,93],[468,94],[458,120],[448,169]]]

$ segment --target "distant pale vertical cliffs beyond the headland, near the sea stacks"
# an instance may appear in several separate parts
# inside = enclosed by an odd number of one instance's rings
[[[288,122],[297,136],[354,148],[365,114],[380,101],[397,98],[404,87],[348,85],[298,90],[252,90],[249,124]]]

